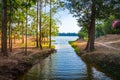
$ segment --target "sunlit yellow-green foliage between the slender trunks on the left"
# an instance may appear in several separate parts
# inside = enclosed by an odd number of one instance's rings
[[[8,1],[8,19],[10,19],[10,17],[12,18],[12,33],[14,34],[21,34],[21,28],[23,28],[23,33],[25,34],[25,19],[26,19],[26,8],[28,10],[28,20],[29,20],[29,27],[28,27],[28,34],[30,35],[35,35],[36,34],[36,2],[38,0],[28,0],[28,2],[24,1],[24,0],[9,0]],[[63,3],[62,1],[55,1],[55,0],[51,0],[52,1],[52,5],[54,5],[52,7],[52,11],[53,11],[53,15],[56,13],[56,10],[60,7],[63,7]],[[1,3],[0,3],[1,4]],[[49,6],[49,0],[43,0],[42,4],[44,4],[44,7]],[[46,4],[46,5],[45,5]],[[59,6],[59,7],[58,7]],[[11,8],[11,12],[9,10],[9,8]],[[1,11],[1,7],[0,7],[0,11]],[[0,16],[1,13],[0,13]],[[9,22],[9,20],[8,20]],[[45,34],[46,36],[48,36],[49,33],[49,24],[50,23],[50,17],[49,17],[49,12],[43,12],[42,13],[42,34]],[[58,34],[58,26],[57,26],[57,20],[52,18],[52,35],[55,36]],[[0,23],[0,27],[1,27],[1,23]],[[19,35],[20,35],[19,34]]]

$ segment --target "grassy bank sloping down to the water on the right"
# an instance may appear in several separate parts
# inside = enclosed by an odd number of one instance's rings
[[[113,80],[120,80],[120,53],[118,51],[95,44],[95,51],[83,52],[85,42],[70,41],[69,43],[85,63],[96,66]]]

